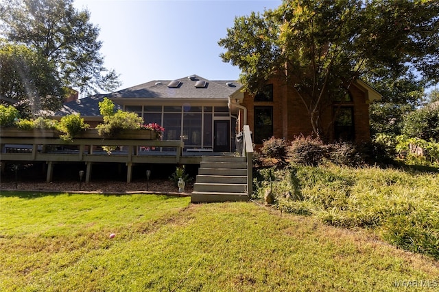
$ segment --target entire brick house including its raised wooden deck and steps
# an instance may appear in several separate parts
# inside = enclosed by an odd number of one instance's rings
[[[200,165],[192,202],[248,200],[252,193],[252,143],[261,145],[272,136],[292,140],[296,135],[312,133],[307,111],[294,88],[276,79],[256,96],[243,92],[237,81],[210,81],[198,75],[150,81],[109,94],[73,98],[54,117],[79,113],[95,127],[103,120],[99,102],[104,98],[112,100],[117,109],[137,113],[146,124],[161,124],[164,141],[80,137],[64,148],[57,137],[34,137],[35,133],[32,137],[5,136],[4,144],[27,144],[32,150],[4,152],[1,161],[43,163],[47,165],[48,182],[59,164],[76,163],[82,170],[85,163],[82,174],[86,183],[91,180],[92,169],[106,163],[117,164],[118,172],[125,165],[127,183],[133,173],[145,174],[145,168],[151,165]],[[369,140],[368,105],[379,98],[366,83],[356,81],[346,96],[325,107],[322,122],[330,129],[331,139]],[[119,145],[118,152],[106,155],[99,150],[107,143]],[[47,152],[53,147],[38,150],[43,144],[62,147],[53,152]],[[239,157],[230,154],[236,150],[241,153]]]

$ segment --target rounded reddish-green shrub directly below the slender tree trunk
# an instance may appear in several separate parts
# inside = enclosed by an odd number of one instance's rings
[[[320,139],[299,136],[289,145],[287,153],[293,163],[315,166],[328,156],[328,148]]]

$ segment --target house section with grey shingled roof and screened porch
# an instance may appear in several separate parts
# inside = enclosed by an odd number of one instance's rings
[[[104,97],[118,108],[133,111],[147,123],[165,128],[163,140],[182,140],[185,150],[233,152],[237,111],[230,111],[230,96],[242,95],[236,81],[209,81],[198,75],[175,80],[150,81],[112,92],[65,103],[56,116],[80,113],[94,127],[102,117]]]

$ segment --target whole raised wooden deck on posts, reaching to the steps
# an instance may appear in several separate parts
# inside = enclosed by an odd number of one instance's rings
[[[186,151],[182,141],[161,140],[102,140],[80,138],[64,143],[58,138],[1,137],[0,161],[2,171],[6,163],[47,163],[47,179],[52,181],[54,163],[83,162],[85,181],[91,178],[93,163],[125,163],[127,182],[132,178],[132,165],[138,163],[200,164],[202,156],[233,155],[230,152],[203,150]],[[99,146],[117,145],[110,155]]]

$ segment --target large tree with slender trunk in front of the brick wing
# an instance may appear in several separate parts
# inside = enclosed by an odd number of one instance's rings
[[[284,0],[276,10],[235,18],[219,45],[256,93],[274,75],[294,85],[313,131],[322,108],[375,68],[401,77],[416,68],[439,80],[436,0]]]

